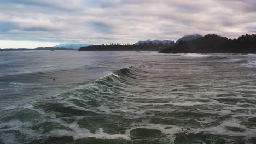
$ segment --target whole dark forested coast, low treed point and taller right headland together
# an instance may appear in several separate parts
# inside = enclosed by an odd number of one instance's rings
[[[228,39],[216,34],[187,35],[174,41],[146,40],[135,44],[91,45],[79,51],[159,51],[160,53],[256,53],[256,35]]]

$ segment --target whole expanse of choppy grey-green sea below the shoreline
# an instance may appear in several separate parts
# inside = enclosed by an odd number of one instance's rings
[[[0,143],[256,143],[256,55],[0,59]]]

